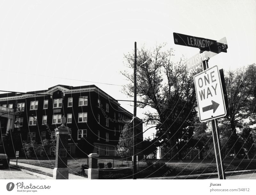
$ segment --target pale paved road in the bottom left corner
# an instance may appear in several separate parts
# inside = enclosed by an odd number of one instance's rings
[[[0,169],[0,179],[42,179],[41,177],[37,177],[35,175],[30,175],[26,172],[8,168],[8,169]]]

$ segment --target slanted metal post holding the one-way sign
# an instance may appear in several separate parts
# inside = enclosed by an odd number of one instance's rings
[[[206,70],[209,68],[208,60],[203,61],[203,70]],[[213,138],[213,145],[214,145],[214,151],[215,151],[218,176],[219,176],[219,179],[226,179],[224,167],[223,167],[222,156],[221,156],[221,151],[220,151],[220,148],[221,148],[220,147],[220,136],[219,136],[219,132],[218,132],[217,119],[213,119],[213,120],[211,120],[211,122],[212,122],[212,138]]]

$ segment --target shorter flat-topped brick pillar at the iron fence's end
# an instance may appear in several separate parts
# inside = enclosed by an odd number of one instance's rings
[[[88,179],[99,179],[98,157],[99,155],[97,153],[91,153],[88,155],[88,158],[89,158]]]

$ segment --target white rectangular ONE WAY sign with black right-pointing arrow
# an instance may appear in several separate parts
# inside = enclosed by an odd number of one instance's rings
[[[217,66],[194,76],[196,98],[201,122],[226,116],[226,106]]]

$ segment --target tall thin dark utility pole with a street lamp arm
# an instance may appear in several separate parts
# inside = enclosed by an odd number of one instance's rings
[[[136,133],[135,133],[135,118],[137,112],[137,43],[134,42],[134,102],[133,102],[133,121],[132,121],[132,132],[133,132],[133,170],[132,179],[136,179],[137,173],[137,158],[136,158]]]

